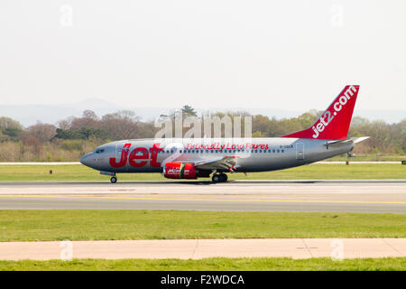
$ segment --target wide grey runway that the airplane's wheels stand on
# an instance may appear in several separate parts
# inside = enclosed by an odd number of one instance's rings
[[[0,210],[406,213],[406,180],[2,182]]]

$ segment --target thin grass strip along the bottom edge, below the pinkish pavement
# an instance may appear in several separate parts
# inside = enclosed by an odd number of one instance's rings
[[[0,261],[0,271],[24,270],[272,270],[272,271],[312,271],[312,270],[353,270],[383,271],[406,270],[406,258],[365,258],[332,261],[330,258],[311,258],[292,260],[291,258],[207,258],[201,260],[179,259],[74,259],[72,261]]]

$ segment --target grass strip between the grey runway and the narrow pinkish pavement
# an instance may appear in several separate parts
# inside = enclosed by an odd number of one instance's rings
[[[406,238],[406,214],[0,210],[0,241]]]

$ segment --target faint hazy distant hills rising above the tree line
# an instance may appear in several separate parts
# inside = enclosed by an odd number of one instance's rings
[[[56,124],[67,117],[80,117],[84,110],[90,109],[103,116],[121,109],[134,110],[143,120],[151,120],[161,114],[169,114],[175,107],[122,107],[115,103],[99,98],[87,98],[83,101],[64,105],[21,105],[21,106],[0,106],[0,117],[12,117],[18,120],[23,126],[32,126],[37,122]],[[278,119],[284,117],[297,117],[306,111],[284,110],[275,108],[242,108],[242,107],[218,107],[218,108],[196,108],[198,113],[205,111],[247,111],[251,114],[262,114]],[[309,109],[307,110],[309,111]],[[406,117],[406,110],[355,110],[355,116],[365,117],[370,120],[382,119],[388,123],[397,123]]]

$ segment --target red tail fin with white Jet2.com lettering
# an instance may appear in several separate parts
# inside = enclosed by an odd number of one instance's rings
[[[347,85],[313,126],[283,137],[346,139],[358,90],[359,85]]]

